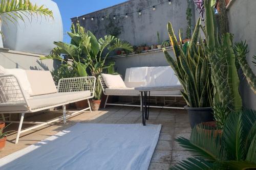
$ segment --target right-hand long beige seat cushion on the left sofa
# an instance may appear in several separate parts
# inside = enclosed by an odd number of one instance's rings
[[[32,99],[28,100],[28,102],[31,109],[38,109],[42,107],[72,103],[73,101],[87,98],[90,95],[90,91],[52,93],[33,96]]]

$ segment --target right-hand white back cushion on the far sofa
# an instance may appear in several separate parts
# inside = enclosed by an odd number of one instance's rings
[[[170,86],[177,83],[173,80],[175,72],[170,66],[148,67],[146,86]]]

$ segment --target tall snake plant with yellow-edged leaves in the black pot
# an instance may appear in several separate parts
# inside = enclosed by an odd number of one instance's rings
[[[205,46],[200,37],[200,18],[189,44],[178,44],[172,23],[167,29],[173,46],[175,58],[170,56],[165,48],[163,52],[169,65],[174,69],[184,91],[181,91],[189,107],[211,107],[213,88],[211,83],[211,68],[205,55]],[[180,34],[180,41],[181,41]],[[198,43],[198,39],[200,43]]]

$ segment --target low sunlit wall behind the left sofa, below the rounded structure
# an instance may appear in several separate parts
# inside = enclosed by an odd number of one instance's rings
[[[36,70],[50,70],[60,64],[53,60],[39,60],[39,54],[24,53],[0,48],[0,65],[4,68],[22,68]]]

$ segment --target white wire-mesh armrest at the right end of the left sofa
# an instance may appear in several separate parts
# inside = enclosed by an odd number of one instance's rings
[[[60,79],[57,90],[58,92],[90,90],[91,96],[94,96],[95,82],[94,76]]]

